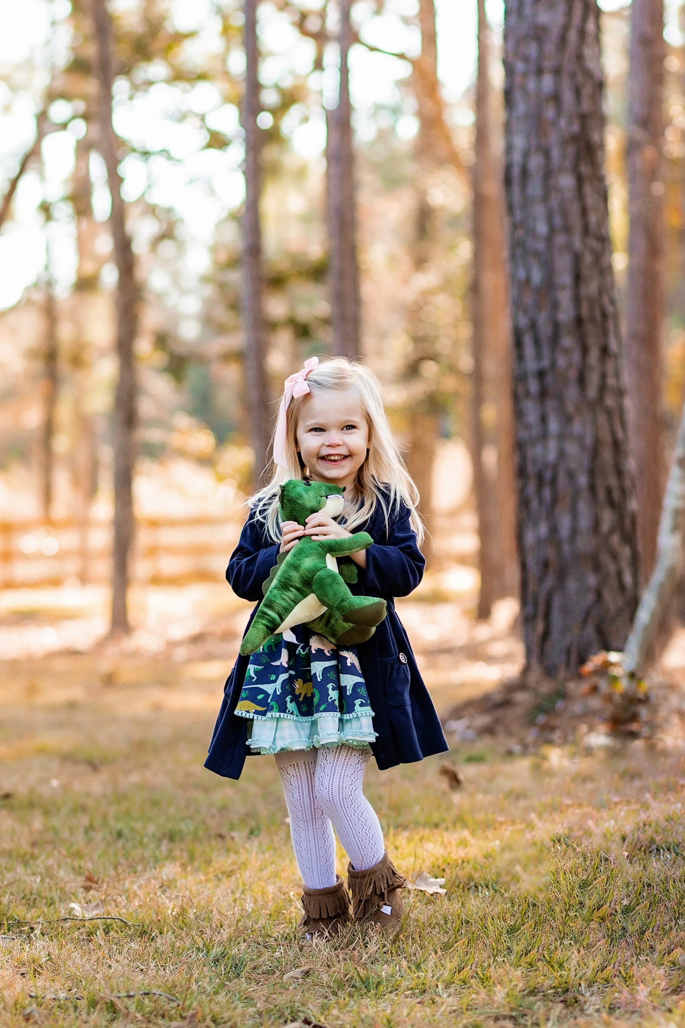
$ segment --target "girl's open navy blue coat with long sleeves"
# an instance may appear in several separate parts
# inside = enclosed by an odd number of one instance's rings
[[[355,530],[363,529],[374,544],[367,550],[366,571],[357,568],[358,583],[350,589],[358,595],[382,596],[387,601],[385,620],[368,642],[357,647],[374,711],[374,730],[378,733],[371,748],[383,771],[445,752],[449,746],[394,609],[393,597],[408,596],[416,589],[425,564],[409,523],[409,509],[403,505],[390,515],[386,527],[383,512],[377,508],[369,523]],[[251,513],[226,572],[233,592],[259,604],[263,598],[262,584],[276,563],[277,554],[278,544],[270,544],[263,523],[256,522]],[[257,608],[250,621],[256,611]],[[204,763],[210,771],[226,778],[240,777],[248,756],[245,719],[234,717],[234,710],[249,660],[239,656],[228,676]]]

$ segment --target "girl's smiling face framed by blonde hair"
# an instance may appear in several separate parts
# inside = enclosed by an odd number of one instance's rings
[[[297,446],[315,482],[353,486],[367,458],[369,425],[350,393],[310,393],[300,408]]]

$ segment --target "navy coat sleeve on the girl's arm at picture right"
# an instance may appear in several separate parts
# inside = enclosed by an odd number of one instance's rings
[[[409,516],[409,508],[403,504],[398,514],[390,518],[383,541],[374,541],[367,550],[367,568],[361,574],[368,595],[408,596],[423,578],[426,561]]]

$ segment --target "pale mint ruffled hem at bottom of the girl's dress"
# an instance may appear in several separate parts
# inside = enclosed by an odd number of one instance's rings
[[[248,745],[262,755],[282,750],[318,749],[320,746],[357,746],[368,748],[377,733],[372,714],[324,713],[308,719],[255,718]]]

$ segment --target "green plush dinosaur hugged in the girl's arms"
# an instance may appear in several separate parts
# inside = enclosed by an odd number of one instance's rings
[[[343,491],[339,485],[291,479],[280,487],[281,520],[304,524],[310,514],[319,512],[338,517]],[[349,539],[314,540],[303,536],[292,550],[279,554],[278,563],[264,583],[264,599],[240,653],[256,653],[270,635],[302,624],[332,642],[351,645],[371,638],[385,617],[385,600],[353,596],[338,571],[336,557],[366,550],[372,543],[366,531]],[[356,581],[355,572],[345,567],[345,579]]]

